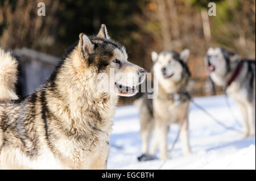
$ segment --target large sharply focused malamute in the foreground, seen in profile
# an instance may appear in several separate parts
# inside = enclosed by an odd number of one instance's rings
[[[136,94],[144,69],[127,61],[125,48],[109,38],[104,25],[97,36],[80,33],[48,81],[23,100],[14,93],[16,66],[1,50],[0,167],[106,169],[118,95]],[[97,91],[97,75],[113,78],[110,68],[129,80],[114,79],[113,92]]]

